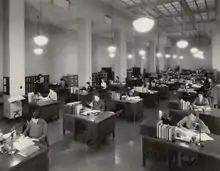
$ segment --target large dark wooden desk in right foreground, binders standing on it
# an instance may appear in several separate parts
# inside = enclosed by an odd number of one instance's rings
[[[163,139],[156,138],[156,120],[154,122],[146,120],[141,124],[141,135],[142,135],[142,159],[143,166],[147,158],[152,157],[156,160],[163,160],[170,164],[170,154],[189,154],[198,156],[195,166],[190,166],[193,169],[199,167],[201,170],[209,171],[219,170],[219,165],[216,163],[220,161],[220,136],[211,134],[210,136],[214,141],[204,142],[204,147],[200,148],[195,144],[184,143],[180,141],[170,142]],[[206,158],[206,163],[201,161]],[[211,164],[209,162],[213,162]],[[209,166],[209,167],[207,167]],[[199,170],[200,170],[199,169]],[[186,169],[183,169],[186,170]]]

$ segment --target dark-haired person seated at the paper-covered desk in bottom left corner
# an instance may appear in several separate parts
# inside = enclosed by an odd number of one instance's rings
[[[30,138],[36,139],[37,141],[47,145],[47,123],[39,117],[39,112],[35,111],[30,122],[27,124],[27,127],[24,131],[24,136],[29,136]]]

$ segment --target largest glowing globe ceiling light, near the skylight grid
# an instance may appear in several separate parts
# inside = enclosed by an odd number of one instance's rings
[[[135,30],[140,33],[149,32],[154,27],[154,24],[154,20],[147,17],[138,18],[133,22]]]

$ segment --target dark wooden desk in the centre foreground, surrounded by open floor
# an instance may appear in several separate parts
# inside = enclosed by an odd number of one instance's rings
[[[70,131],[76,137],[76,122],[81,122],[86,127],[86,139],[94,141],[99,145],[108,135],[115,136],[115,114],[104,112],[103,114],[92,116],[63,114],[63,130]]]

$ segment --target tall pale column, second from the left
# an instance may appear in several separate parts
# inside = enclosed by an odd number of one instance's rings
[[[85,86],[86,82],[92,82],[92,22],[81,19],[78,24],[79,86]]]

